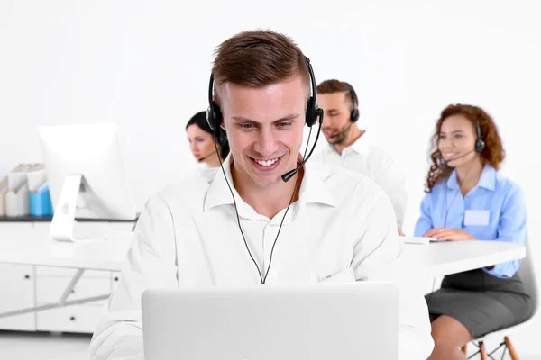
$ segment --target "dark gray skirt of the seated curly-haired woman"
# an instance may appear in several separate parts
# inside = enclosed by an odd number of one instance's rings
[[[473,338],[524,322],[531,308],[518,273],[500,279],[482,269],[446,275],[441,289],[425,299],[431,315],[460,321]]]

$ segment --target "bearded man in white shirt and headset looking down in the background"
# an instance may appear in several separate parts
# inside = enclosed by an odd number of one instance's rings
[[[317,85],[317,103],[325,112],[323,133],[328,145],[314,160],[371,177],[389,195],[402,235],[408,202],[406,174],[383,148],[371,142],[366,130],[357,127],[359,103],[353,86],[326,80]]]

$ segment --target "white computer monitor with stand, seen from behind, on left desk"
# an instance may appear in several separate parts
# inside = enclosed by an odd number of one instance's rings
[[[135,220],[115,123],[38,128],[54,216],[51,238],[75,240],[75,218]]]

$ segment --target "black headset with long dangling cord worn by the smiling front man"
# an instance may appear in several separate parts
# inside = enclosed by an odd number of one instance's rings
[[[310,64],[310,59],[305,57],[305,60],[307,62],[308,73],[310,75],[310,82],[311,82],[311,89],[312,89],[312,94],[310,95],[310,97],[308,99],[307,112],[306,112],[306,115],[305,115],[305,121],[307,123],[307,126],[310,128],[310,133],[308,134],[307,148],[305,149],[305,153],[304,153],[304,156],[303,156],[303,161],[300,163],[300,165],[297,168],[295,168],[293,170],[290,170],[289,172],[287,172],[284,175],[281,175],[282,180],[284,182],[286,182],[286,183],[289,181],[289,179],[291,179],[291,177],[293,177],[295,174],[297,174],[298,170],[300,170],[302,168],[302,166],[305,165],[305,163],[307,162],[307,159],[314,152],[314,149],[316,148],[316,144],[317,144],[317,139],[319,139],[319,133],[321,132],[321,125],[323,124],[323,110],[320,109],[319,106],[317,106],[317,102],[316,102],[316,100],[317,100],[316,77],[314,76],[314,70],[312,69],[312,65]],[[216,139],[217,138],[217,133],[216,133],[217,129],[220,128],[220,125],[222,124],[222,121],[224,121],[224,116],[222,114],[222,110],[220,109],[220,106],[213,99],[213,93],[214,93],[214,74],[211,73],[210,74],[209,84],[208,84],[208,110],[206,111],[206,121],[208,122],[208,126],[210,126],[210,128],[215,131],[214,138]],[[319,122],[319,129],[317,130],[316,140],[314,141],[314,145],[312,146],[312,149],[310,150],[310,153],[308,154],[308,156],[306,156],[307,155],[308,144],[309,144],[309,141],[310,141],[310,135],[312,134],[312,126],[314,124],[316,124],[316,122]],[[216,149],[216,152],[217,152],[218,148],[217,148],[217,145],[216,145],[216,140],[215,140],[215,149]],[[269,266],[267,266],[267,271],[265,272],[265,275],[263,276],[259,266],[257,265],[257,262],[255,261],[255,259],[252,256],[252,252],[250,251],[250,247],[248,247],[248,243],[246,242],[246,238],[244,237],[243,228],[241,227],[241,220],[240,220],[240,217],[239,217],[239,212],[237,210],[236,201],[234,199],[234,193],[233,193],[233,190],[231,188],[231,185],[227,181],[227,176],[225,175],[225,170],[224,170],[224,166],[222,164],[222,159],[220,157],[218,157],[218,159],[220,160],[220,167],[222,168],[222,173],[224,174],[225,182],[227,184],[227,187],[229,187],[229,191],[231,192],[231,196],[233,197],[234,211],[236,213],[236,218],[237,218],[237,223],[238,223],[238,226],[239,226],[239,230],[241,231],[241,235],[243,236],[244,245],[246,247],[246,250],[248,250],[248,254],[252,258],[253,264],[257,268],[257,271],[258,271],[258,273],[260,275],[261,284],[265,284],[265,282],[267,280],[267,275],[269,275],[269,270],[271,269],[272,254],[274,253],[274,246],[276,245],[276,241],[278,240],[278,237],[280,236],[280,230],[281,230],[281,227],[282,227],[282,224],[283,224],[284,220],[286,219],[286,215],[288,214],[289,207],[291,206],[291,202],[293,202],[293,197],[295,196],[295,191],[297,189],[298,179],[300,178],[300,176],[297,176],[297,181],[295,182],[295,186],[293,187],[293,193],[291,193],[291,198],[289,199],[288,207],[287,207],[286,211],[284,212],[284,216],[283,216],[283,218],[282,218],[282,220],[280,222],[280,228],[278,229],[278,233],[276,234],[276,238],[274,239],[274,242],[272,243],[271,257],[270,257],[270,260],[269,260]]]

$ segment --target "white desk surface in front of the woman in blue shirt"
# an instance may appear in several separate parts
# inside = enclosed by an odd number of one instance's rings
[[[526,247],[500,241],[446,241],[404,244],[400,257],[372,266],[372,279],[408,281],[461,273],[526,257]]]

